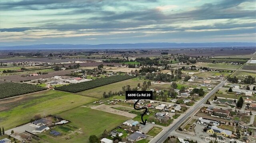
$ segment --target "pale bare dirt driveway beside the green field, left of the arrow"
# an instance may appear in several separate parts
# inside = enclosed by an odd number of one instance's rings
[[[122,116],[126,116],[126,117],[129,117],[129,118],[135,118],[137,116],[136,114],[124,112],[124,111],[121,111],[121,110],[116,110],[116,109],[113,109],[111,107],[125,107],[125,106],[105,105],[105,104],[98,105],[98,106],[91,106],[92,109],[101,110],[101,111],[109,112],[109,113],[112,113],[112,114],[122,115]],[[128,108],[128,107],[125,107],[125,108]]]

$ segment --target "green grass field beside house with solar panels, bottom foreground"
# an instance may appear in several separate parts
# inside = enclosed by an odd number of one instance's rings
[[[127,117],[93,110],[88,107],[77,107],[56,114],[64,119],[71,121],[69,126],[73,127],[74,131],[65,133],[60,137],[51,137],[45,133],[39,136],[52,143],[87,143],[90,135],[97,135],[101,137],[103,131],[107,129],[108,132],[112,131],[115,127],[126,121]],[[69,136],[71,139],[66,140]]]

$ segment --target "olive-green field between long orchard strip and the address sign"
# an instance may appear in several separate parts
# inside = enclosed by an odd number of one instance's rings
[[[105,86],[100,86],[97,88],[78,92],[78,94],[85,95],[85,96],[93,96],[96,98],[102,98],[102,94],[104,92],[108,93],[109,91],[112,91],[112,92],[122,91],[122,86],[126,86],[126,85],[130,85],[131,88],[135,88],[137,87],[138,83],[142,85],[144,81],[148,81],[148,80],[139,80],[138,78],[132,78],[129,80],[124,80],[124,81],[108,84]]]

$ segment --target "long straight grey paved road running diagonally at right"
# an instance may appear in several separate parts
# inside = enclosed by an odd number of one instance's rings
[[[202,106],[202,104],[204,104],[206,102],[206,100],[210,96],[212,96],[218,90],[218,88],[222,87],[225,83],[226,83],[226,81],[220,82],[220,84],[218,84],[211,92],[209,92],[200,102],[197,102],[195,106],[192,106],[191,107],[192,109],[186,115],[183,114],[183,117],[179,121],[170,125],[168,127],[168,129],[166,129],[162,133],[158,134],[149,143],[162,143],[162,142],[164,142],[165,139],[167,139],[167,137],[170,135],[170,133],[172,131],[174,131],[176,128],[178,128],[186,119],[188,119],[194,112],[196,112]]]

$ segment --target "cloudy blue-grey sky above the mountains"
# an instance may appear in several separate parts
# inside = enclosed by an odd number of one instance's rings
[[[0,0],[0,45],[256,42],[256,0]]]

